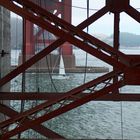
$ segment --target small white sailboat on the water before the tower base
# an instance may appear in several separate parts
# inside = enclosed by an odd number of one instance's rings
[[[59,64],[59,73],[58,75],[53,75],[53,79],[68,79],[69,76],[66,75],[65,72],[65,66],[64,66],[64,60],[62,54],[60,55],[60,64]]]

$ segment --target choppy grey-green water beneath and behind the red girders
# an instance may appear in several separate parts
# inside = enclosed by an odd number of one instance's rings
[[[80,65],[81,61],[77,61]],[[95,62],[89,61],[89,64]],[[95,64],[95,63],[94,63]],[[97,63],[103,66],[105,63]],[[106,64],[105,64],[106,65]],[[111,67],[110,67],[111,68]],[[95,79],[102,74],[87,74],[87,81]],[[26,90],[41,92],[54,91],[49,75],[45,74],[28,74]],[[12,90],[20,91],[20,76],[12,82]],[[70,74],[70,80],[54,80],[56,89],[59,92],[68,91],[75,86],[83,83],[84,74]],[[19,85],[17,85],[17,83]],[[42,84],[43,83],[43,84]],[[125,87],[121,91],[139,92],[139,87]],[[15,101],[11,103],[18,110]],[[121,108],[122,106],[122,108]],[[122,109],[122,114],[121,114]],[[121,116],[122,124],[121,126]],[[58,132],[66,138],[70,139],[140,139],[140,103],[139,102],[104,102],[91,101],[72,111],[69,111],[57,118],[46,123],[48,128]],[[26,132],[26,137],[39,137],[32,131]],[[25,136],[25,135],[23,135]]]

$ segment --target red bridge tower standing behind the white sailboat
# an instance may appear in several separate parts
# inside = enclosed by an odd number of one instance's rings
[[[34,1],[33,1],[34,2]],[[35,2],[36,4],[40,4],[38,1]],[[71,6],[67,6],[67,5],[72,5],[72,0],[63,0],[62,2],[58,2],[59,5],[58,7],[56,7],[56,2],[51,2],[51,1],[48,1],[47,2],[50,7],[44,7],[44,1],[42,1],[42,7],[45,8],[46,10],[51,10],[52,12],[54,10],[57,10],[57,12],[59,14],[61,14],[61,18],[64,19],[65,21],[71,23]],[[61,4],[61,10],[59,9],[60,7],[60,4]],[[58,9],[57,9],[58,8]],[[58,13],[56,13],[56,16],[58,15]],[[29,59],[31,56],[33,56],[35,54],[35,43],[39,43],[39,44],[42,44],[42,46],[44,46],[44,41],[43,41],[43,38],[39,38],[44,30],[42,30],[39,34],[36,34],[34,35],[33,31],[33,24],[31,22],[29,22],[28,20],[25,20],[24,21],[24,44],[25,44],[25,48],[24,48],[24,54],[22,55],[26,55],[26,60]],[[35,41],[37,40],[37,42]],[[39,41],[39,42],[38,42]],[[48,38],[45,38],[45,42],[52,42],[51,39],[48,39]],[[48,44],[46,44],[48,45]],[[73,55],[73,47],[72,47],[72,44],[70,43],[64,43],[62,46],[60,46],[60,54],[63,55],[63,58],[64,58],[64,65],[65,65],[65,68],[73,68],[75,67],[75,56]],[[54,67],[58,67],[59,65],[59,61],[56,62],[55,60],[59,57],[59,54],[56,56],[56,54],[49,54],[48,55],[48,59],[51,59],[51,64],[49,64],[49,67],[52,69]],[[21,64],[22,62],[22,56],[20,56],[19,58],[19,64]],[[57,59],[58,60],[58,59]],[[43,60],[42,60],[43,61]],[[45,62],[42,62],[42,64],[45,63]],[[45,64],[43,64],[45,65]]]

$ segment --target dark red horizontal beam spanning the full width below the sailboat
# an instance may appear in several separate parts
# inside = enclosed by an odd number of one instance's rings
[[[0,92],[0,100],[53,100],[60,98],[66,93],[21,93],[21,92]],[[80,93],[78,97],[84,97],[89,93]],[[75,100],[74,97],[69,97],[70,100]],[[140,93],[119,93],[108,94],[94,101],[140,101]],[[15,116],[15,115],[14,115]]]

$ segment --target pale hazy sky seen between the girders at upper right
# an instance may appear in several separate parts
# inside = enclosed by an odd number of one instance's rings
[[[90,15],[96,12],[96,9],[100,9],[105,5],[105,0],[89,0],[90,1]],[[85,7],[87,0],[73,0],[73,6],[77,7]],[[140,11],[140,0],[130,0],[130,4]],[[72,8],[72,23],[74,25],[78,25],[87,17],[87,10],[81,8]],[[111,35],[113,34],[113,14],[107,13],[102,18],[94,22],[92,25],[89,26],[89,32],[91,34],[106,34]],[[121,21],[120,21],[120,31],[121,32],[130,32],[140,35],[140,24],[133,20],[130,16],[126,13],[121,13]]]

